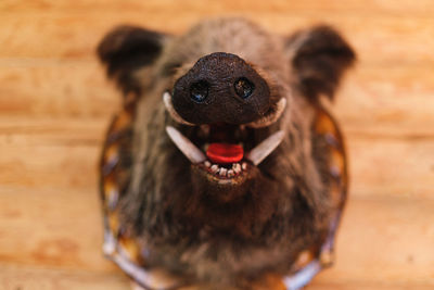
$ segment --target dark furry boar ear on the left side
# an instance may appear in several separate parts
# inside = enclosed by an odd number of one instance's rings
[[[161,54],[166,36],[135,26],[118,26],[110,31],[97,49],[107,76],[127,93],[138,92],[140,84],[133,73],[152,64]]]

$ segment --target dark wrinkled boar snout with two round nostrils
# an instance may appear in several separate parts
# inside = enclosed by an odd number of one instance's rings
[[[173,103],[194,124],[245,124],[269,110],[270,90],[244,60],[216,52],[201,58],[176,81]]]

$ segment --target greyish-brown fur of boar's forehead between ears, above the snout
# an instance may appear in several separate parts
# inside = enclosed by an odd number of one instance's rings
[[[232,53],[250,64],[272,67],[276,72],[281,67],[281,52],[280,43],[275,40],[260,26],[244,18],[206,20],[168,43],[162,58],[162,72],[174,73],[186,63],[193,65],[200,58],[214,52]]]

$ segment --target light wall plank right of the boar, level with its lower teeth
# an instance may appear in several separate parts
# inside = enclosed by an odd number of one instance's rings
[[[433,199],[434,140],[348,139],[350,194]]]

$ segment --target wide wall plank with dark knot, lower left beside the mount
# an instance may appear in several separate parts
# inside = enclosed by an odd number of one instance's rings
[[[102,254],[97,190],[2,186],[0,191],[0,264],[114,272]]]

